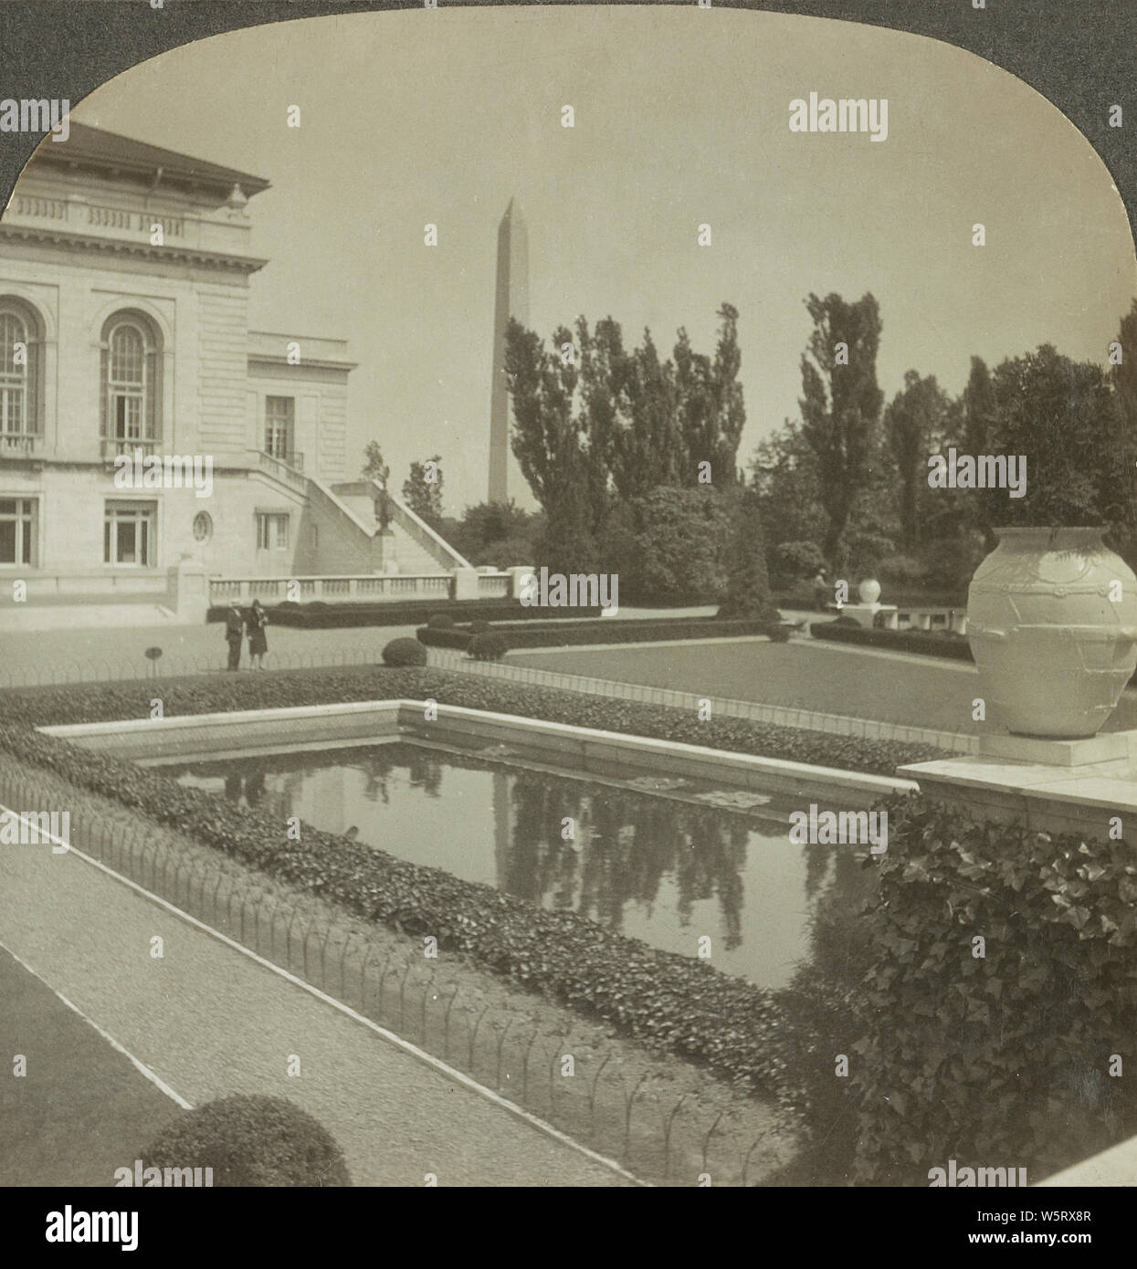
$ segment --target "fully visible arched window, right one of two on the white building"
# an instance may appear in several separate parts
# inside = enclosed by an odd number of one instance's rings
[[[113,453],[161,439],[161,336],[145,313],[114,313],[103,326],[102,433]]]

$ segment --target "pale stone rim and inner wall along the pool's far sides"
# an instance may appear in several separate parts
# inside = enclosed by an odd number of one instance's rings
[[[291,732],[284,744],[288,749],[294,749],[303,742],[344,747],[348,742],[379,742],[395,736],[430,739],[430,728],[437,723],[442,723],[442,730],[450,736],[458,733],[467,740],[483,740],[491,746],[523,744],[529,754],[575,759],[586,768],[595,764],[603,769],[605,763],[619,763],[654,774],[712,779],[720,784],[747,789],[760,783],[763,791],[773,788],[798,794],[811,789],[820,793],[855,789],[877,796],[919,791],[915,780],[901,775],[845,772],[789,759],[737,754],[683,741],[409,698],[179,714],[173,718],[63,723],[41,727],[39,731],[122,758],[155,759],[192,754],[204,760],[253,749],[279,749],[280,728],[284,725],[289,725]],[[241,740],[235,745],[237,733]]]

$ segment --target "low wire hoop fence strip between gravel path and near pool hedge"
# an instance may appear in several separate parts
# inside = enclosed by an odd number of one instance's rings
[[[0,811],[42,806],[44,793],[42,777],[0,755]],[[411,938],[368,929],[268,876],[213,860],[203,846],[185,849],[178,835],[126,811],[77,801],[82,805],[70,811],[71,849],[634,1176],[669,1185],[750,1185],[792,1160],[793,1136],[766,1103],[720,1090],[708,1104],[699,1076],[676,1095],[674,1066],[656,1066],[647,1055],[629,1062],[626,1042],[598,1039],[596,1027],[537,997],[528,1005],[480,990],[468,970],[463,976],[448,964],[444,950],[428,959]]]

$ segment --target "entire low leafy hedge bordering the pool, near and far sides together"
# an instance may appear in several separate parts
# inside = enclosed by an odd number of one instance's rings
[[[706,1062],[740,1086],[779,1076],[773,1039],[784,1018],[770,992],[704,961],[651,949],[575,912],[546,911],[491,886],[396,859],[312,826],[306,825],[298,840],[282,840],[274,812],[264,806],[239,807],[220,794],[181,787],[159,770],[81,749],[27,725],[142,718],[156,690],[168,717],[218,708],[433,697],[471,709],[825,766],[892,772],[902,761],[944,756],[926,745],[832,736],[745,718],[699,721],[694,709],[433,669],[265,674],[249,675],[244,683],[221,674],[160,687],[142,680],[0,692],[0,750],[20,765],[53,772],[98,797],[117,801],[143,822],[189,834],[363,920],[434,934],[444,949],[470,956],[527,990],[603,1018],[626,1034]],[[13,723],[15,717],[25,725]]]

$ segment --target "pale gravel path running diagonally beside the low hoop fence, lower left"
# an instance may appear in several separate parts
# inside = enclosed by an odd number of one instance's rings
[[[629,1184],[77,851],[0,848],[0,944],[192,1105],[291,1098],[336,1138],[357,1185],[421,1187],[430,1173],[439,1185]],[[48,1018],[25,1025],[16,1052],[49,1043]],[[98,1091],[108,1076],[76,1079]]]

